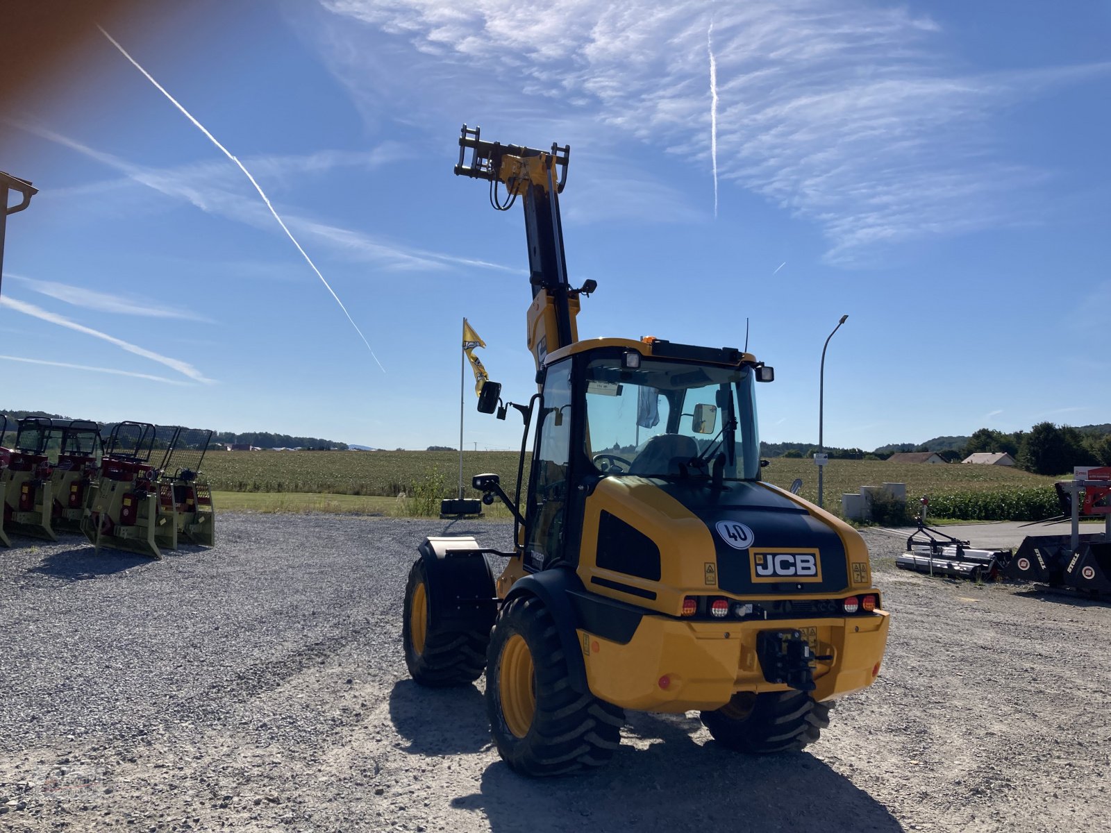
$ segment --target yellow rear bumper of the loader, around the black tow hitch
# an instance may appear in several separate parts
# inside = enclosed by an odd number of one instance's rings
[[[764,680],[757,655],[761,631],[815,629],[814,700],[871,685],[888,641],[887,612],[872,615],[751,622],[691,622],[644,616],[620,644],[579,630],[593,694],[637,711],[714,710],[737,692],[787,691]],[[664,679],[665,678],[665,679]]]

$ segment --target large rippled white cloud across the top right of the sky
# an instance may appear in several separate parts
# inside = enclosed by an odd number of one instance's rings
[[[719,174],[815,223],[840,262],[883,244],[1034,221],[1047,174],[997,152],[994,119],[1111,68],[971,73],[944,56],[934,21],[858,0],[554,0],[543,13],[516,0],[320,1],[342,21],[321,34],[324,58],[364,111],[407,96],[411,119],[439,121],[436,108],[483,84],[489,112],[590,116],[597,132],[663,144],[708,174],[712,13]],[[367,48],[371,28],[390,36],[374,42],[381,49]],[[420,72],[376,66],[388,53],[397,67],[404,49]]]

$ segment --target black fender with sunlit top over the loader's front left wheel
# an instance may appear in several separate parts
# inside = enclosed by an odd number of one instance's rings
[[[428,579],[429,626],[489,631],[498,615],[493,574],[471,536],[426,538],[417,549]]]

